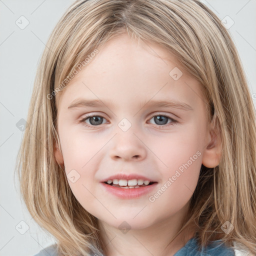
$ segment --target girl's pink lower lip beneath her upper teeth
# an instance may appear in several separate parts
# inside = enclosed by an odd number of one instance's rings
[[[155,188],[157,182],[151,185],[137,187],[137,188],[120,188],[120,187],[108,185],[104,182],[101,182],[101,184],[103,185],[104,189],[107,192],[122,199],[131,199],[131,198],[138,198],[142,195],[149,193],[152,189]]]

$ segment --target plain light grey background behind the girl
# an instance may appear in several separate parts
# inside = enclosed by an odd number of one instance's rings
[[[36,67],[58,19],[73,0],[0,0],[0,255],[34,255],[54,242],[20,202],[14,167]],[[256,105],[256,0],[202,0],[228,28]],[[25,24],[24,16],[29,24]],[[229,16],[229,17],[226,17]],[[231,19],[230,19],[231,18]],[[224,19],[224,20],[225,20]],[[17,23],[19,26],[15,23]],[[21,121],[22,122],[22,121]],[[24,221],[24,222],[20,222]],[[24,233],[26,225],[29,229]]]

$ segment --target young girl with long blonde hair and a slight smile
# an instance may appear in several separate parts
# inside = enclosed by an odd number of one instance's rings
[[[77,0],[41,58],[21,194],[37,255],[256,253],[255,111],[197,0]]]

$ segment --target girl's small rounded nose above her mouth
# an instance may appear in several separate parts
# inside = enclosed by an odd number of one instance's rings
[[[146,146],[131,130],[117,132],[112,138],[109,155],[113,160],[142,160],[146,157]]]

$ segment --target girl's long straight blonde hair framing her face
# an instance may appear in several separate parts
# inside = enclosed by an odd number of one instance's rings
[[[219,129],[219,165],[201,166],[179,233],[193,223],[200,246],[221,239],[256,253],[255,108],[234,43],[198,0],[77,0],[67,9],[41,57],[18,154],[20,191],[30,214],[56,238],[63,255],[105,252],[97,218],[76,200],[54,158],[54,95],[79,63],[125,31],[177,57],[202,84],[208,120]],[[229,233],[221,229],[225,221],[233,225]]]

